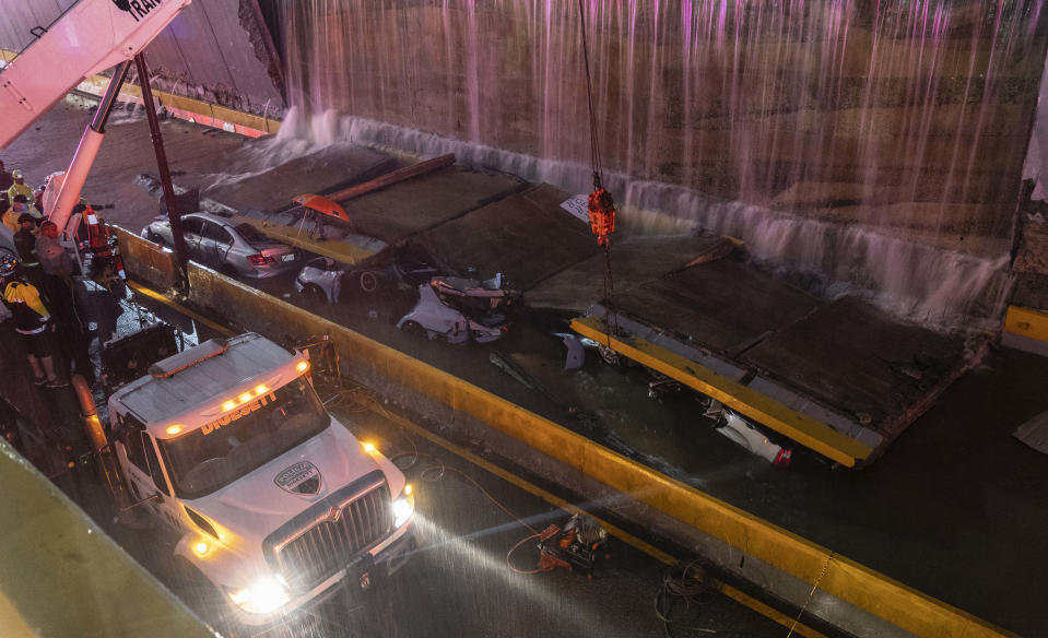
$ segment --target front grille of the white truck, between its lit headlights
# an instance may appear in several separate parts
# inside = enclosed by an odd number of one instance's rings
[[[350,495],[346,501],[332,505],[331,499],[325,499],[314,506],[304,512],[314,515],[311,524],[273,546],[276,569],[293,590],[316,587],[392,531],[392,507],[385,480],[379,478],[364,489]]]

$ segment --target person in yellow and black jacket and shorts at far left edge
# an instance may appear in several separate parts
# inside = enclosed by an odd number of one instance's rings
[[[47,307],[40,302],[39,292],[22,277],[22,264],[13,255],[0,257],[0,288],[3,305],[14,316],[14,331],[25,345],[30,367],[37,386],[63,388],[69,385],[55,374],[51,357],[51,336],[55,324]]]

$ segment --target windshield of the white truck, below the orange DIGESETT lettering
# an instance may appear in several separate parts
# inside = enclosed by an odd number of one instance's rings
[[[207,496],[322,432],[331,423],[304,378],[176,439],[158,440],[175,493]]]

